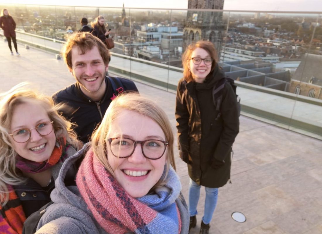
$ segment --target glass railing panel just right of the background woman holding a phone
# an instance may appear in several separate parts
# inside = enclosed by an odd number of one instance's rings
[[[133,56],[131,44],[130,10],[126,8],[99,8],[99,15],[105,19],[105,26],[110,30],[115,47],[111,49],[109,72],[132,79],[130,56]]]

